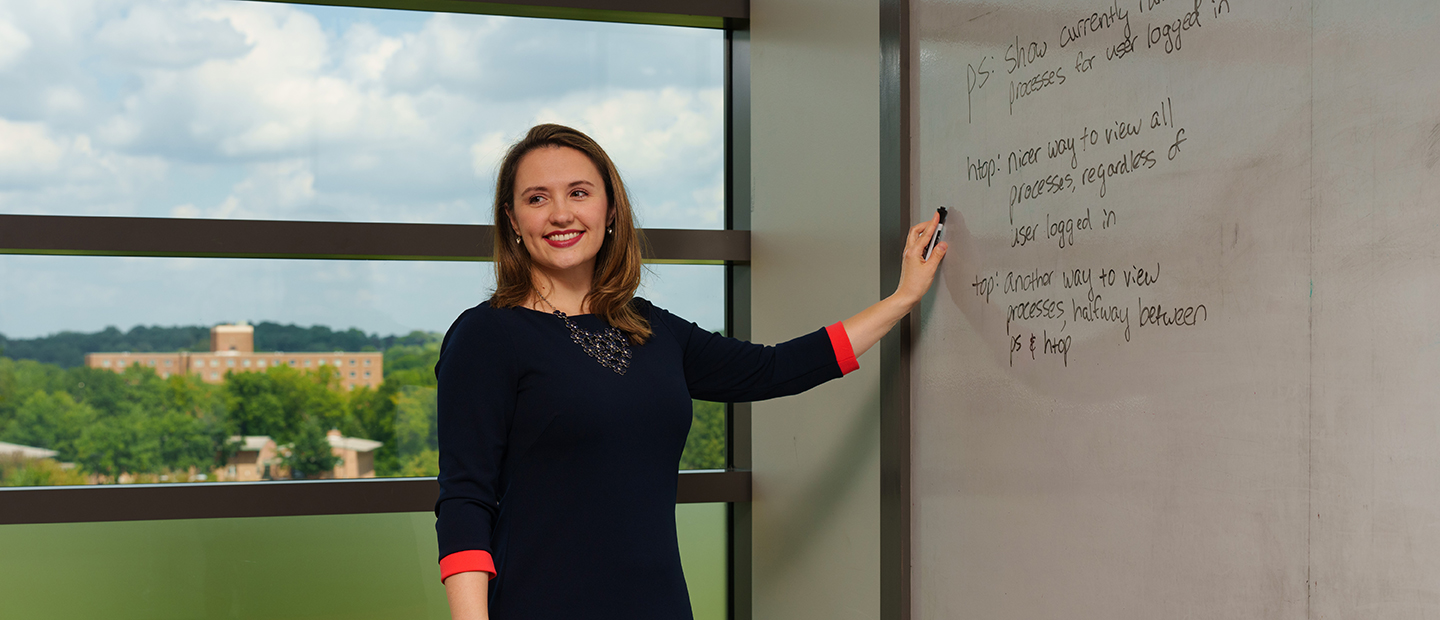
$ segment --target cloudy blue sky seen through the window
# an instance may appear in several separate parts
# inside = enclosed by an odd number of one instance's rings
[[[536,122],[595,137],[647,227],[723,226],[716,30],[239,0],[0,0],[0,213],[488,223]],[[645,293],[719,328],[719,268]],[[488,263],[0,256],[0,334],[444,329]],[[99,302],[99,305],[96,305]]]

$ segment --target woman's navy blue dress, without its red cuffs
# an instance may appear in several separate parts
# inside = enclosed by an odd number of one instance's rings
[[[624,375],[547,312],[487,302],[445,335],[439,552],[491,554],[495,620],[691,619],[675,539],[690,398],[773,398],[842,374],[827,329],[762,347],[635,308],[654,335]]]

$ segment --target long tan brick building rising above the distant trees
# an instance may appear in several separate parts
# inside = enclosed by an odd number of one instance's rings
[[[210,352],[88,352],[85,365],[122,373],[132,364],[156,370],[161,378],[194,374],[206,383],[225,381],[225,373],[264,373],[265,368],[289,365],[315,370],[331,365],[340,371],[340,384],[380,387],[384,380],[380,352],[255,352],[255,327],[245,324],[210,328]]]

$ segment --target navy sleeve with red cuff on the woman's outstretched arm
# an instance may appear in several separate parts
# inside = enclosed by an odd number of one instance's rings
[[[661,308],[651,308],[652,322],[670,329],[680,342],[685,383],[694,398],[723,403],[776,398],[860,368],[841,324],[766,347],[706,331]]]

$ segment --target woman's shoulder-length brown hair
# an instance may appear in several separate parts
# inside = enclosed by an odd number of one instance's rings
[[[492,308],[514,308],[530,301],[536,292],[531,275],[530,252],[524,243],[516,243],[518,236],[510,224],[511,201],[516,196],[516,173],[530,151],[537,148],[564,147],[583,152],[605,178],[605,196],[609,200],[609,226],[615,230],[605,236],[600,252],[595,255],[595,283],[585,301],[590,312],[625,332],[631,344],[639,345],[649,339],[649,322],[635,312],[631,301],[639,288],[641,232],[635,229],[629,193],[621,181],[621,173],[595,140],[564,125],[536,125],[526,137],[510,147],[500,163],[495,180],[495,293],[490,298]]]

